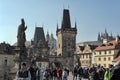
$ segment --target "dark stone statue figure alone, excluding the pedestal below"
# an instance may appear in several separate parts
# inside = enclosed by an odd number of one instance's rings
[[[26,29],[27,29],[27,26],[25,27],[25,21],[22,18],[21,24],[18,26],[18,34],[17,34],[17,46],[18,47],[25,47],[25,42],[26,42],[25,30]]]

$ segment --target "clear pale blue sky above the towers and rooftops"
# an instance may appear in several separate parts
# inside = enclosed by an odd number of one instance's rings
[[[34,37],[35,25],[56,37],[61,28],[63,9],[69,9],[72,27],[77,22],[77,42],[95,41],[105,28],[109,34],[120,34],[120,0],[0,0],[0,43],[14,44],[24,18],[26,39]]]

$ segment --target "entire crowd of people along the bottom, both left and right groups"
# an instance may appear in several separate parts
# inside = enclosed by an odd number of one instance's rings
[[[71,80],[120,80],[120,62],[117,65],[109,65],[109,68],[103,66],[81,67],[76,65],[73,70],[73,79]],[[36,65],[26,67],[21,64],[20,70],[16,74],[16,80],[68,80],[69,70],[67,68],[38,68]]]

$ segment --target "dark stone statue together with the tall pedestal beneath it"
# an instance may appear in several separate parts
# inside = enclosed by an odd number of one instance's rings
[[[25,26],[25,21],[22,18],[21,19],[21,24],[18,26],[18,34],[17,34],[17,47],[18,47],[18,62],[19,62],[19,67],[22,62],[25,62],[27,59],[27,52],[26,52],[26,47],[25,47],[25,42],[26,42],[26,35],[25,35],[25,30],[27,29],[27,26]]]

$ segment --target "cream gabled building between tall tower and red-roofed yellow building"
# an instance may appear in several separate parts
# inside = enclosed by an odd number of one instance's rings
[[[97,46],[95,45],[85,45],[77,46],[76,52],[79,56],[80,63],[82,67],[89,67],[92,64],[93,52]]]

